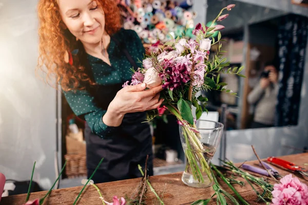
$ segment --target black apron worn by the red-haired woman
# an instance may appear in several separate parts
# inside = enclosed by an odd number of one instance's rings
[[[121,51],[126,55],[131,65],[137,69],[127,50],[119,44],[117,39],[112,38]],[[98,107],[107,110],[123,84],[89,88],[94,96]],[[124,115],[122,124],[119,127],[111,128],[110,135],[103,139],[92,133],[88,124],[85,128],[87,171],[88,178],[97,167],[101,158],[104,158],[101,167],[93,176],[94,183],[102,183],[115,180],[142,177],[138,165],[144,169],[146,156],[147,174],[153,175],[152,165],[152,137],[149,125],[144,122],[145,112],[127,113]],[[107,128],[109,129],[109,128]]]

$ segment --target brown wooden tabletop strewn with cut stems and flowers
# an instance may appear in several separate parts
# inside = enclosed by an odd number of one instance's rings
[[[305,167],[304,163],[308,163],[308,153],[282,156],[280,158],[287,161],[292,161],[302,167]],[[249,161],[246,163],[250,165],[257,165],[258,161]],[[306,166],[306,168],[308,168],[308,166]],[[280,168],[277,168],[277,170],[279,170],[279,173],[281,175],[289,174],[289,172],[286,170],[282,170]],[[294,175],[297,176],[306,185],[308,185],[308,177],[304,178],[302,175],[297,173],[294,173]],[[184,183],[181,181],[181,176],[182,173],[173,173],[149,177],[151,185],[157,193],[162,194],[165,188],[163,199],[166,205],[190,204],[198,199],[209,198],[214,193],[211,187],[206,189],[199,189],[191,188],[184,185]],[[238,179],[241,180],[240,177]],[[112,197],[114,195],[121,197],[127,194],[127,196],[130,197],[131,194],[136,191],[136,188],[139,186],[139,183],[140,178],[137,178],[101,183],[98,184],[98,187],[100,188],[104,198],[107,201],[112,202]],[[224,190],[228,191],[229,193],[232,193],[232,191],[229,190],[229,188],[225,186],[224,183],[221,183],[221,185]],[[257,196],[249,185],[245,185],[244,187],[234,185],[234,187],[250,204],[264,204],[262,202],[256,202]],[[44,204],[72,204],[81,189],[82,187],[72,187],[54,190],[51,192],[50,196],[46,198]],[[46,191],[32,193],[30,195],[30,199],[41,198],[45,194]],[[156,197],[152,194],[150,189],[147,190],[145,196],[147,197],[147,199],[145,200],[146,204],[158,204]],[[26,194],[8,196],[2,198],[2,202],[0,202],[0,205],[23,204],[25,199]],[[78,204],[102,204],[102,202],[99,199],[97,190],[95,190],[93,186],[88,186],[83,192]],[[209,204],[216,204],[216,200],[211,200]]]

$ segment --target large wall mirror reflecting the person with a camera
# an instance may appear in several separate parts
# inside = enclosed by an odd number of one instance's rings
[[[228,68],[245,66],[241,79],[224,74],[225,92],[210,91],[208,111],[226,118],[227,130],[296,126],[307,45],[307,17],[242,3],[207,1],[206,19],[214,19],[227,4],[236,4],[219,24]],[[212,47],[212,52],[215,47]],[[227,112],[222,113],[222,105]]]

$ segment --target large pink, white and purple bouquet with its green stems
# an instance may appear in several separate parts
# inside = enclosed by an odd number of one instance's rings
[[[228,14],[222,15],[224,10],[231,10],[235,5],[228,5],[223,8],[218,16],[213,20],[223,20]],[[207,98],[196,94],[201,90],[219,90],[236,95],[231,90],[226,89],[226,84],[221,83],[220,73],[229,73],[243,76],[241,68],[229,68],[226,58],[222,58],[220,44],[221,33],[218,33],[217,40],[211,37],[214,32],[223,29],[222,25],[205,27],[198,24],[192,32],[196,39],[187,40],[184,37],[172,39],[165,43],[164,49],[152,49],[150,55],[142,61],[143,68],[133,71],[132,80],[127,81],[123,87],[146,83],[147,88],[162,85],[164,90],[161,97],[164,98],[163,107],[178,119],[182,135],[182,145],[187,158],[185,172],[189,172],[194,180],[204,183],[204,179],[209,179],[206,186],[210,186],[213,181],[208,162],[213,157],[220,141],[222,127],[215,127],[212,131],[207,130],[206,137],[209,138],[211,132],[221,130],[215,139],[216,147],[207,145],[200,139],[204,138],[196,126],[196,120],[192,116],[191,107],[196,107],[196,117],[200,118],[206,110]],[[153,45],[157,47],[158,44]],[[216,52],[213,57],[209,57],[210,48],[215,45]],[[160,51],[160,52],[154,52]],[[148,120],[158,116],[158,110],[148,112]],[[183,180],[183,177],[182,177]],[[185,183],[185,182],[184,182]],[[206,187],[196,186],[196,187]]]

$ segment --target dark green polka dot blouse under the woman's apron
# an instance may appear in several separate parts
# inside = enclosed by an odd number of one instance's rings
[[[114,34],[114,37],[126,46],[131,57],[141,67],[142,64],[140,61],[143,59],[145,50],[137,33],[133,30],[121,29],[118,33]],[[131,64],[126,56],[122,52],[119,52],[117,44],[112,39],[110,40],[107,51],[111,66],[106,64],[102,59],[88,54],[88,60],[95,82],[99,85],[124,84],[127,80],[131,79]],[[73,112],[78,116],[84,115],[94,134],[102,138],[110,136],[113,128],[106,126],[102,120],[106,110],[95,105],[94,96],[91,96],[86,90],[68,91],[64,92],[64,95]]]

